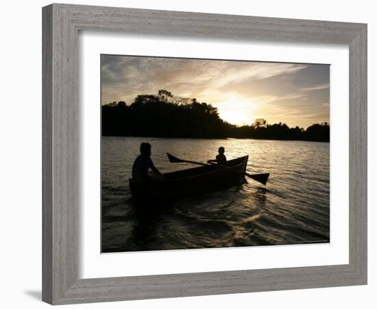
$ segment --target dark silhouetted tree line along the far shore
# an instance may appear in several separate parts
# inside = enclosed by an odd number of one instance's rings
[[[195,98],[182,98],[166,90],[156,95],[137,95],[134,102],[102,105],[103,136],[252,138],[330,141],[327,122],[306,128],[268,124],[256,119],[250,126],[235,126],[219,117],[217,108]]]

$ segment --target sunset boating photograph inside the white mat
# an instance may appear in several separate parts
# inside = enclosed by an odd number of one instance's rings
[[[101,253],[330,243],[329,64],[100,59]]]

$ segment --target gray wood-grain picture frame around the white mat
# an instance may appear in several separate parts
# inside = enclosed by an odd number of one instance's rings
[[[43,8],[42,21],[43,301],[73,304],[367,284],[367,25],[66,4]],[[347,44],[349,264],[78,279],[77,34],[80,30]]]

